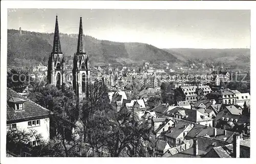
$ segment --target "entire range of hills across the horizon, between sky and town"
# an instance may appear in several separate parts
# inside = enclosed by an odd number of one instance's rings
[[[8,30],[8,66],[33,66],[38,63],[47,65],[52,51],[53,33],[37,33]],[[144,43],[121,43],[98,40],[84,36],[86,51],[93,66],[98,65],[139,65],[152,62],[170,66],[198,63],[225,63],[229,66],[250,68],[250,49],[193,49],[170,48],[160,49]],[[72,64],[77,48],[77,34],[60,34],[61,50],[66,61]],[[189,61],[189,62],[188,62]]]

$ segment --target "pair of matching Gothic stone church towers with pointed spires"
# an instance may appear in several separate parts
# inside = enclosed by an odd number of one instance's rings
[[[72,85],[73,90],[80,100],[84,100],[89,96],[88,86],[90,84],[89,57],[86,53],[83,41],[82,17],[80,17],[77,50],[74,53]],[[61,88],[66,84],[65,58],[61,51],[58,17],[56,16],[55,31],[53,38],[53,49],[49,56],[47,81],[48,84]]]

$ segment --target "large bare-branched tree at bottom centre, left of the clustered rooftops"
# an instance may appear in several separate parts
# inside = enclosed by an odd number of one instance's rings
[[[152,142],[151,127],[139,124],[133,110],[127,110],[126,107],[122,107],[118,112],[110,110],[103,118],[101,124],[94,123],[91,126],[102,129],[97,131],[96,135],[100,136],[97,143],[104,147],[111,157],[148,155],[148,143]]]

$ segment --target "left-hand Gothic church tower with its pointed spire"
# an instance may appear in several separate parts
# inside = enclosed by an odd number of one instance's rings
[[[58,88],[66,83],[65,60],[61,52],[59,39],[58,16],[56,16],[53,49],[48,61],[47,81],[49,84]]]

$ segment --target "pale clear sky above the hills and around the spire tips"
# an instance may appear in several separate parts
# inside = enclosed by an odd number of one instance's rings
[[[8,29],[141,42],[159,48],[250,48],[250,10],[8,9]]]

